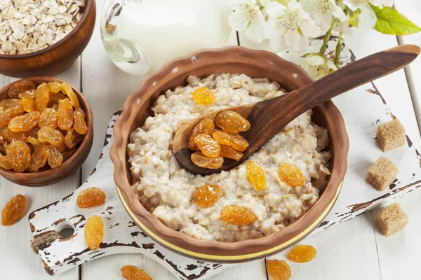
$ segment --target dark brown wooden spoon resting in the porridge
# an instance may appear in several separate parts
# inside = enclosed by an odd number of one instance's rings
[[[280,97],[203,114],[182,125],[175,134],[173,141],[175,158],[182,168],[193,174],[208,175],[231,169],[247,160],[258,148],[265,145],[283,127],[305,111],[355,87],[399,70],[419,54],[420,47],[417,45],[399,45],[359,59],[314,83]],[[190,158],[193,151],[187,148],[192,129],[203,118],[214,120],[218,113],[227,110],[239,113],[250,122],[250,130],[241,133],[249,143],[247,150],[243,152],[243,158],[239,162],[225,158],[224,165],[220,169],[207,169],[194,165]]]

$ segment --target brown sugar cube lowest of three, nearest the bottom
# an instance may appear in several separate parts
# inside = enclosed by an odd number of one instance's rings
[[[382,234],[390,236],[405,228],[409,218],[403,211],[401,205],[394,203],[380,210],[375,217],[375,221],[379,225],[380,230],[382,230]]]

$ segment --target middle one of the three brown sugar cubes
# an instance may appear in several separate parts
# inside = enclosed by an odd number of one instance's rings
[[[398,167],[386,157],[380,157],[370,166],[366,182],[377,190],[386,190],[398,176]]]

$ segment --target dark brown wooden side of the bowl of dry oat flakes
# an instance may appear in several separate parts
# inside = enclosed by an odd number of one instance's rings
[[[95,0],[87,0],[85,12],[76,27],[48,48],[25,55],[0,55],[0,73],[24,78],[53,76],[72,64],[83,52],[95,27]]]

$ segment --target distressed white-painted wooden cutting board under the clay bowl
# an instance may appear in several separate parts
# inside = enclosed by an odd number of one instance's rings
[[[335,50],[335,38],[329,43],[330,55]],[[314,40],[312,51],[319,49],[320,40]],[[341,62],[355,59],[351,51],[342,51]],[[392,118],[385,100],[373,84],[368,84],[342,94],[334,99],[347,125],[349,134],[348,171],[342,191],[330,214],[319,228],[320,232],[332,225],[347,221],[380,204],[410,193],[421,186],[421,156],[410,139],[403,148],[382,153],[375,141],[375,130],[379,123]],[[105,145],[91,176],[76,192],[62,200],[38,209],[29,215],[29,225],[37,245],[37,251],[48,274],[58,274],[83,262],[116,253],[140,253],[153,258],[180,279],[206,279],[232,265],[203,262],[186,258],[156,244],[149,239],[123,209],[113,180],[109,148],[114,136],[112,127],[120,112],[112,116],[105,137]],[[399,167],[398,179],[389,190],[380,193],[365,181],[368,167],[382,155],[386,155]],[[77,195],[86,188],[98,187],[107,193],[103,206],[92,209],[76,207]],[[98,251],[89,251],[83,239],[86,218],[100,215],[105,223],[105,236]],[[74,229],[67,239],[58,238],[57,232],[64,228]]]

